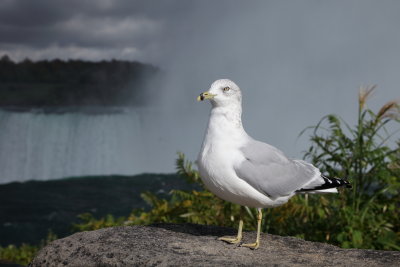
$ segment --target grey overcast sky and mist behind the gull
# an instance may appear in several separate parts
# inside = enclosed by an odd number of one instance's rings
[[[2,0],[0,54],[161,66],[153,97],[170,129],[186,131],[166,142],[192,159],[210,108],[194,99],[230,78],[244,91],[247,131],[298,157],[306,126],[328,113],[354,121],[360,85],[378,85],[374,108],[400,97],[399,14],[396,0]]]

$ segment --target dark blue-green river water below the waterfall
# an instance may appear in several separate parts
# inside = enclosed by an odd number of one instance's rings
[[[0,176],[1,177],[1,176]],[[150,206],[140,196],[152,192],[169,199],[172,189],[191,190],[176,174],[90,176],[0,185],[0,246],[38,244],[49,229],[58,237],[71,234],[78,215],[96,218],[128,216]],[[1,267],[1,265],[0,265]]]

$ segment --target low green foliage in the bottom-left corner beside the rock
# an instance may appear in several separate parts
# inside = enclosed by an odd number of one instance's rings
[[[51,241],[57,239],[52,232],[49,232],[47,238],[42,240],[39,245],[22,244],[20,246],[8,245],[0,247],[0,260],[21,265],[28,265],[35,257],[36,253]]]

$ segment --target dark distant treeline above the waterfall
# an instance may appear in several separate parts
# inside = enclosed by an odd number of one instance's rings
[[[159,69],[134,61],[0,59],[0,107],[146,104]]]

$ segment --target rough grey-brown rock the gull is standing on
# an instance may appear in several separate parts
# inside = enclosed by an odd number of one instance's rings
[[[81,232],[43,248],[30,266],[400,266],[400,252],[341,249],[261,235],[258,250],[218,241],[235,230],[194,224]],[[254,232],[244,233],[253,242]]]

